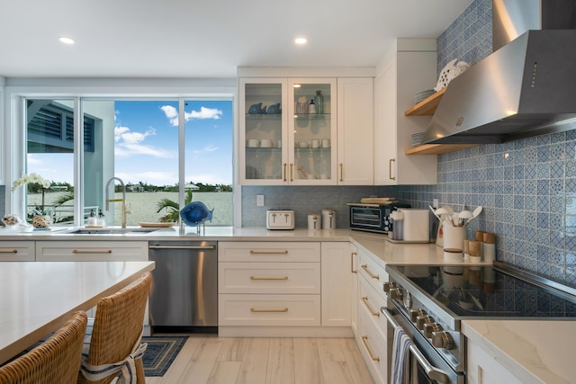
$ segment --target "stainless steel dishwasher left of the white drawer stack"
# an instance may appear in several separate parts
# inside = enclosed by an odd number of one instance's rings
[[[152,332],[218,333],[218,252],[209,241],[151,241]]]

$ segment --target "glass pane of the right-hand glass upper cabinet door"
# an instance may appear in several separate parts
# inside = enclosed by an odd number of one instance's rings
[[[296,179],[330,179],[331,89],[329,84],[294,86],[294,165]]]

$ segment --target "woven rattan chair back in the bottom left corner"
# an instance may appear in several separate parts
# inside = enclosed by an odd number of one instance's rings
[[[70,384],[76,382],[87,317],[76,312],[53,335],[0,367],[2,384]]]

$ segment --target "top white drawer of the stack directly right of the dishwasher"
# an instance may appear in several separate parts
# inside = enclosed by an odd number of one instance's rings
[[[320,243],[219,242],[220,262],[320,263]]]

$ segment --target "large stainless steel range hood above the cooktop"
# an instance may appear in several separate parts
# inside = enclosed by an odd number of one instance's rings
[[[500,3],[505,2],[494,0],[495,13]],[[524,0],[513,3],[525,5]],[[536,3],[541,13],[552,8],[563,16],[561,22],[552,22],[556,19],[547,13],[547,17],[540,18],[548,21],[547,25],[543,22],[543,27],[574,28],[576,1]],[[572,9],[572,13],[567,12],[565,6]],[[560,9],[563,11],[559,12]],[[501,38],[501,31],[510,28],[502,27],[496,15],[493,19],[499,26],[494,27],[496,41]],[[532,30],[521,34],[448,85],[423,143],[500,143],[576,129],[574,47],[576,30],[573,29]]]

